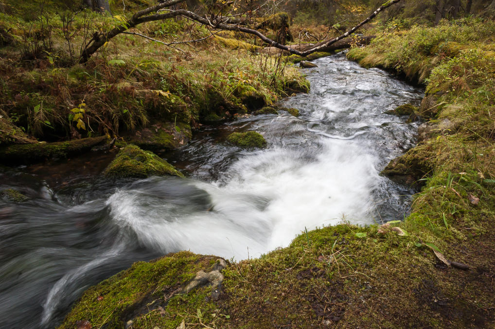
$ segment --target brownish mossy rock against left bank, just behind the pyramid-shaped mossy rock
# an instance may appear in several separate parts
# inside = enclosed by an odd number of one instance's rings
[[[126,138],[132,144],[154,152],[164,152],[187,144],[192,137],[187,123],[158,122]]]

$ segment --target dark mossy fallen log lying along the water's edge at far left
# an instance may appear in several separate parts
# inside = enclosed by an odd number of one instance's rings
[[[14,144],[0,149],[0,161],[5,165],[32,164],[48,159],[66,158],[90,151],[107,140],[105,136],[54,143]]]

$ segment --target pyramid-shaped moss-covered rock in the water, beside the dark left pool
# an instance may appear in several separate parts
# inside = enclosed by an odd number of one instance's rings
[[[184,176],[158,155],[132,144],[119,151],[115,159],[106,167],[104,174],[110,178],[146,178],[153,175]]]

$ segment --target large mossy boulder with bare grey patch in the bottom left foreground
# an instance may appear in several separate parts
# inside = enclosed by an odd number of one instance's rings
[[[189,251],[134,263],[86,290],[58,328],[175,329],[184,320],[181,314],[199,308],[202,320],[210,320],[216,308],[211,299],[220,290],[225,266],[223,259]],[[188,294],[193,289],[195,293]]]

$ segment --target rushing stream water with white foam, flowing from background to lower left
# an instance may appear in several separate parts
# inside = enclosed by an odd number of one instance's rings
[[[92,284],[135,261],[189,249],[236,260],[287,246],[305,228],[402,219],[413,191],[379,176],[414,145],[416,124],[384,114],[422,91],[339,54],[304,70],[300,110],[205,128],[169,161],[189,177],[106,181],[107,155],[1,175],[0,328],[53,328]],[[267,149],[228,145],[255,130]]]

